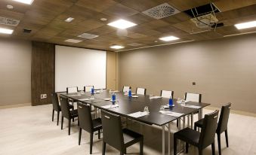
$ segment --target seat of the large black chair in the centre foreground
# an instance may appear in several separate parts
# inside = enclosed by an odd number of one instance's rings
[[[124,135],[124,144],[125,147],[129,147],[134,143],[137,143],[140,141],[141,138],[143,138],[143,135],[140,135],[137,132],[133,132],[130,129],[123,129],[122,130]]]

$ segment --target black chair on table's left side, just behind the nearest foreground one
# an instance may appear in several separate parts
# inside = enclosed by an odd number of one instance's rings
[[[98,138],[100,139],[100,129],[102,129],[101,119],[91,118],[91,108],[88,105],[79,103],[79,145],[81,143],[82,129],[90,133],[90,154],[92,153],[92,142],[94,139],[94,132],[98,132]]]

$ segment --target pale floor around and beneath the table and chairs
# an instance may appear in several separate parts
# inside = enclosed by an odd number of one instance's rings
[[[89,154],[88,133],[82,132],[82,144],[79,146],[77,121],[72,123],[71,135],[68,135],[67,121],[64,121],[64,129],[60,130],[60,126],[56,125],[57,114],[55,114],[54,122],[51,122],[51,111],[51,105],[0,109],[0,154]],[[204,110],[203,112],[209,113],[211,111]],[[144,135],[144,154],[162,154],[161,128],[157,126],[141,125],[140,123],[133,123],[131,121],[129,121],[128,126],[134,131]],[[173,123],[171,132],[177,131],[175,126],[176,124]],[[224,155],[256,154],[255,117],[230,114],[228,131],[230,141],[229,148],[226,147],[224,135],[221,137],[222,153]],[[165,135],[167,135],[167,132]],[[98,140],[97,135],[95,135],[93,154],[101,154],[101,148],[102,141]],[[128,148],[128,154],[138,153],[139,144]],[[119,154],[119,152],[112,147],[106,146],[106,154]],[[190,147],[189,154],[197,154],[196,148]],[[206,148],[203,154],[211,154],[211,147]]]

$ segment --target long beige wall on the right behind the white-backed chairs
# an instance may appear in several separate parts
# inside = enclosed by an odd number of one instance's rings
[[[196,82],[193,86],[192,82]],[[256,113],[256,35],[196,41],[119,53],[119,89],[202,93],[202,102]]]

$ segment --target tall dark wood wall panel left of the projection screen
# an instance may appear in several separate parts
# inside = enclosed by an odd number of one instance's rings
[[[32,105],[51,103],[51,93],[54,92],[54,56],[54,44],[32,41]],[[41,99],[41,94],[47,94],[47,98]]]

